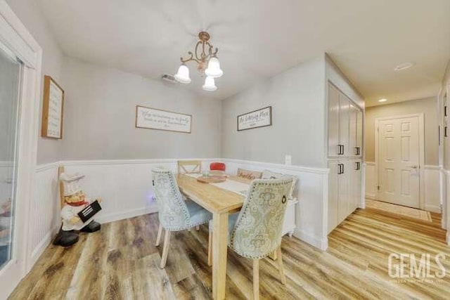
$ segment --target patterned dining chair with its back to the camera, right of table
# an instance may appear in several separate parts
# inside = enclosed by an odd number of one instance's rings
[[[255,179],[250,184],[242,209],[229,216],[229,247],[240,256],[253,260],[253,298],[259,299],[259,259],[276,252],[281,282],[285,284],[281,230],[293,185],[292,177]],[[211,264],[212,222],[208,264]]]

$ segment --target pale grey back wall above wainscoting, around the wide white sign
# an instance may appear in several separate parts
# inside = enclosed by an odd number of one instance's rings
[[[63,78],[63,159],[219,157],[219,100],[73,58]],[[136,105],[192,115],[192,133],[136,129]]]

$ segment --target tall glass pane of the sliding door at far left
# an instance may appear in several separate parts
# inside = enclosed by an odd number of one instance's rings
[[[0,44],[0,270],[13,259],[22,67]]]

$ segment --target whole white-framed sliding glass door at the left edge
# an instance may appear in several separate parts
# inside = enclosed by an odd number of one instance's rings
[[[26,235],[36,170],[41,48],[0,1],[0,299],[31,266]]]

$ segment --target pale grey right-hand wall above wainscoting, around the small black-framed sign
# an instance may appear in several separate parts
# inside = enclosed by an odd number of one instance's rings
[[[221,156],[325,167],[325,60],[323,56],[260,81],[222,100]],[[272,106],[272,126],[237,131],[237,116]]]

